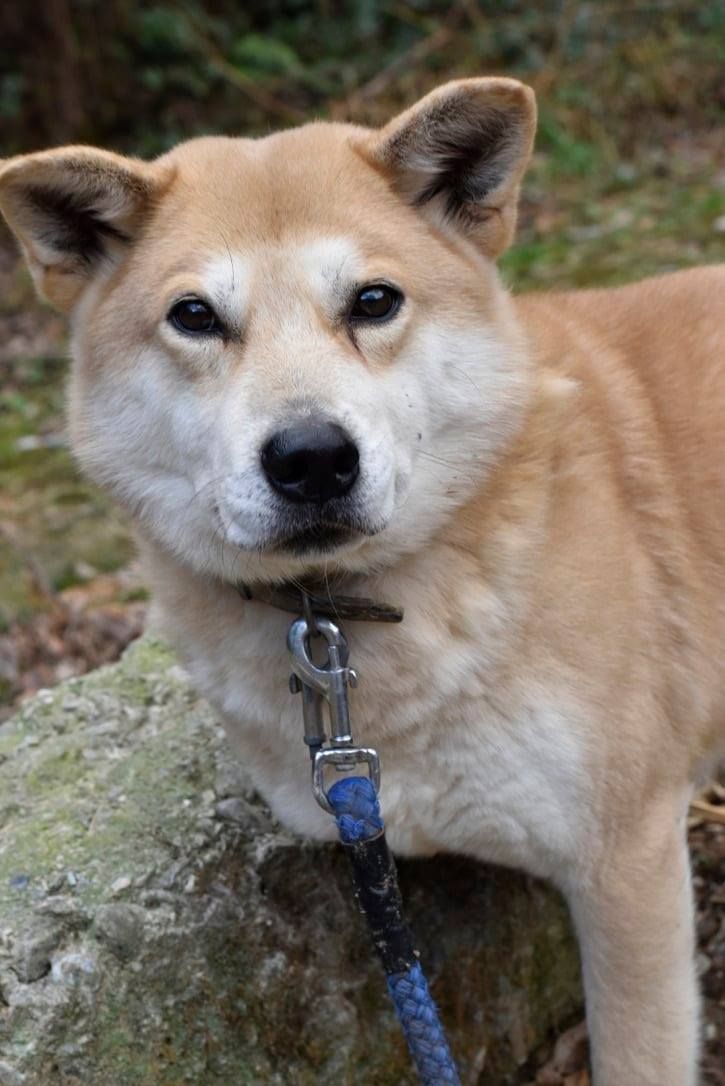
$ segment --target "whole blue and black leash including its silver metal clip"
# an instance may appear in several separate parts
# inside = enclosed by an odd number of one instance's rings
[[[301,595],[305,595],[304,590]],[[340,599],[338,596],[333,603],[339,604]],[[395,862],[385,841],[378,801],[380,759],[371,747],[355,746],[353,741],[347,689],[357,685],[357,675],[347,664],[347,642],[339,626],[316,613],[311,601],[301,602],[298,609],[306,617],[295,619],[288,633],[292,665],[290,690],[302,693],[304,741],[311,758],[313,793],[338,824],[352,867],[355,899],[368,922],[373,946],[385,970],[387,989],[421,1086],[460,1086],[437,1008],[403,915]],[[362,602],[361,609],[367,609],[368,614],[370,603]],[[381,605],[373,606],[379,610]],[[382,621],[400,621],[403,613],[397,608],[387,608],[385,613],[393,610],[399,618]],[[340,614],[340,608],[335,614]],[[360,609],[351,617],[360,618]],[[313,639],[320,636],[326,643],[327,659],[316,664]],[[323,720],[325,704],[330,718],[329,738]],[[366,768],[367,775],[346,775],[327,787],[326,774],[331,771],[347,774],[359,767]]]

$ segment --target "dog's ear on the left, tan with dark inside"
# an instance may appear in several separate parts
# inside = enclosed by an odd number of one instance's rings
[[[140,230],[166,171],[90,147],[0,162],[0,211],[40,294],[71,310],[100,266]]]

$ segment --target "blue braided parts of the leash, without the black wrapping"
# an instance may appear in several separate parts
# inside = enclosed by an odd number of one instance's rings
[[[328,799],[345,844],[368,841],[384,829],[378,796],[368,778],[335,781]],[[422,1086],[460,1086],[438,1010],[420,964],[415,962],[406,973],[390,973],[387,990]]]

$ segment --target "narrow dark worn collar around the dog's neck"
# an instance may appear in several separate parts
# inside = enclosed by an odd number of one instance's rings
[[[272,584],[239,581],[236,588],[242,599],[255,599],[292,615],[323,615],[327,618],[346,618],[359,622],[403,621],[402,607],[365,596],[333,595],[319,581],[278,581]]]

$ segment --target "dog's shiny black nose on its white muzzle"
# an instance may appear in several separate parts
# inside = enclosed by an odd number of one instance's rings
[[[272,434],[262,450],[262,466],[276,491],[291,502],[342,497],[357,479],[357,446],[341,426],[302,419]]]

